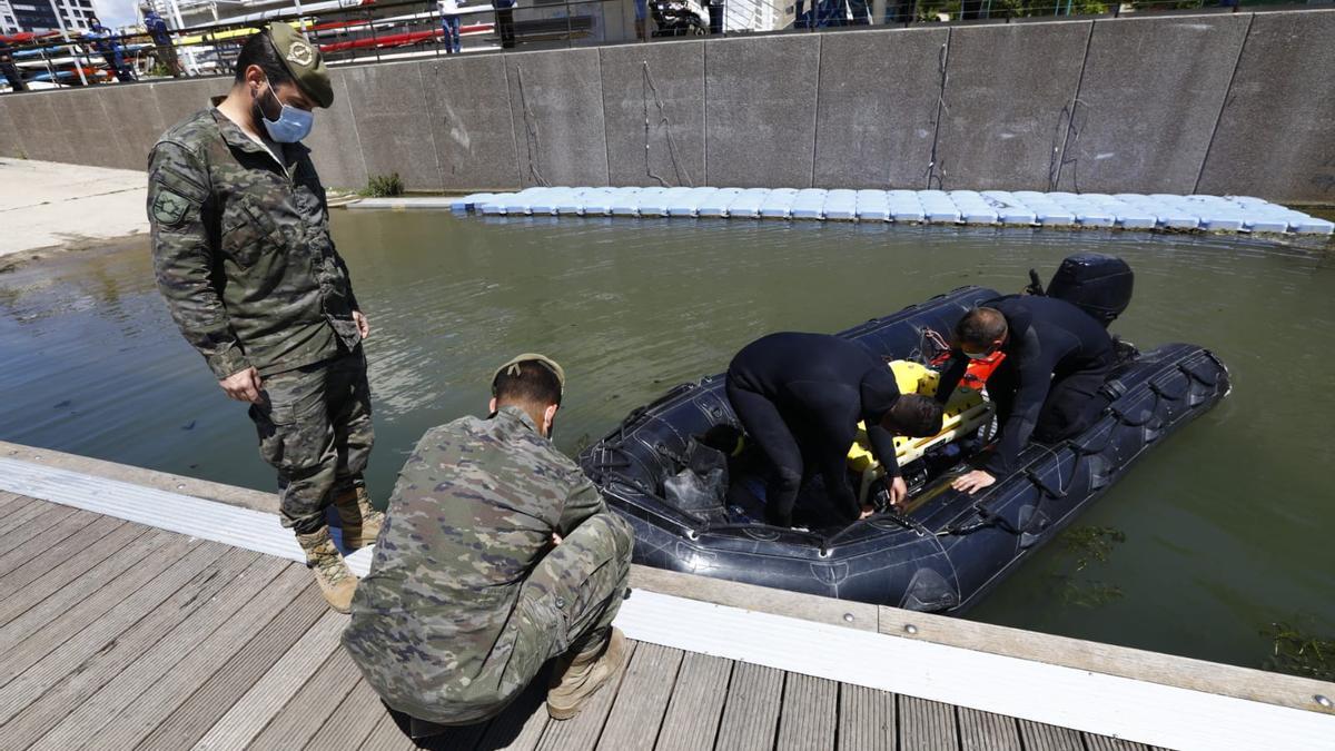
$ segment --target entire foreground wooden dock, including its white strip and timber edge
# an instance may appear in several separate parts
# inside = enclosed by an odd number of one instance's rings
[[[407,738],[276,498],[0,444],[5,748],[1328,748],[1335,684],[634,567],[623,676]],[[366,571],[367,552],[350,557]]]

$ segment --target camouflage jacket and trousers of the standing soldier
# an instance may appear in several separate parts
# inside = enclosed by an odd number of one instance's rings
[[[324,188],[308,148],[276,147],[283,164],[216,108],[191,115],[148,158],[148,216],[186,339],[219,380],[259,370],[260,454],[278,469],[283,524],[310,533],[335,489],[360,485],[374,433]]]

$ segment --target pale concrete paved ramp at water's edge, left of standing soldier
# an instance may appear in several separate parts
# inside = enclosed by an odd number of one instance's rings
[[[0,255],[148,231],[144,172],[0,159]]]

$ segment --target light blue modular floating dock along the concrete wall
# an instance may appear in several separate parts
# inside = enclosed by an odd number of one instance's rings
[[[1335,223],[1244,195],[1003,190],[533,187],[455,199],[368,199],[352,208],[443,208],[487,216],[674,216],[1330,235]]]

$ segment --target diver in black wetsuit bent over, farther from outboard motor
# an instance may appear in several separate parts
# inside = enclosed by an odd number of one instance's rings
[[[820,472],[833,506],[849,521],[865,516],[848,482],[848,449],[866,424],[872,453],[885,468],[890,501],[908,490],[894,460],[894,434],[934,436],[941,406],[901,396],[894,374],[866,347],[825,334],[781,333],[745,347],[728,366],[728,400],[774,468],[766,521],[793,525],[793,504],[808,472]]]

